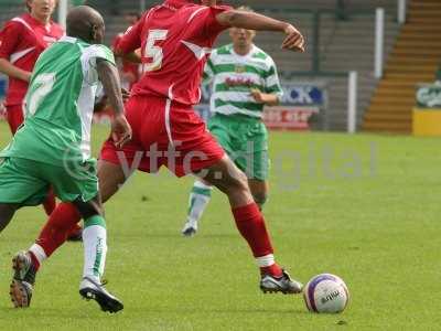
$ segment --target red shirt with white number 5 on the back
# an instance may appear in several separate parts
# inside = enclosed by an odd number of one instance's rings
[[[141,47],[143,75],[131,94],[197,104],[205,63],[217,35],[227,29],[216,15],[227,10],[168,0],[148,11],[117,45],[123,53]]]

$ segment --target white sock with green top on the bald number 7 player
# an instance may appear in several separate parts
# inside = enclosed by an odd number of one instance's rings
[[[106,223],[101,216],[93,216],[84,222],[83,245],[83,277],[89,277],[100,282],[107,254]]]

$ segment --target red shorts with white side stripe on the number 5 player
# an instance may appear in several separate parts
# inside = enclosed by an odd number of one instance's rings
[[[191,106],[136,96],[126,104],[126,117],[132,140],[117,149],[108,139],[100,154],[101,160],[125,167],[125,172],[157,172],[165,166],[183,177],[213,166],[225,154]]]

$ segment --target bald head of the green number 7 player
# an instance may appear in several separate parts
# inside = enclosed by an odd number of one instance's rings
[[[104,20],[99,12],[88,6],[69,10],[66,19],[67,35],[79,38],[88,43],[103,43]]]

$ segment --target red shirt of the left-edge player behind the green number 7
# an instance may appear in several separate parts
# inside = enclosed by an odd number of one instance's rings
[[[63,34],[58,24],[51,21],[44,25],[25,13],[8,21],[0,32],[0,57],[21,70],[32,72],[40,54]],[[26,82],[10,77],[6,104],[20,105],[26,90]]]

